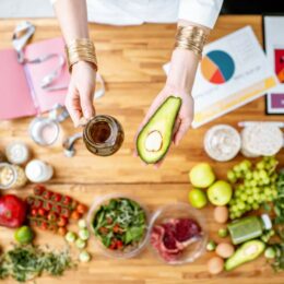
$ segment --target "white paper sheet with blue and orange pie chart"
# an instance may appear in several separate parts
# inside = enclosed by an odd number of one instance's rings
[[[169,64],[164,69],[168,72]],[[273,68],[250,26],[206,45],[191,92],[192,127],[200,127],[264,95],[276,83]]]

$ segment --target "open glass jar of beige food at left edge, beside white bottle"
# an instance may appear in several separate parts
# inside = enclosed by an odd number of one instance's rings
[[[9,163],[0,163],[0,189],[21,188],[27,178],[22,167]]]

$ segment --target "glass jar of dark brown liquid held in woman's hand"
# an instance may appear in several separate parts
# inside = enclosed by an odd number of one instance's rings
[[[111,116],[96,116],[85,126],[83,141],[86,149],[99,156],[116,153],[125,139],[121,125]]]

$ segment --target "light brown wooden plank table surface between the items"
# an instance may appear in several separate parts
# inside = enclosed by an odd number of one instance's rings
[[[55,20],[31,20],[36,26],[34,42],[60,35]],[[0,21],[0,48],[11,47],[11,35],[20,20]],[[227,35],[240,27],[251,25],[260,43],[262,43],[260,16],[221,16],[211,40]],[[165,74],[162,64],[170,58],[174,43],[175,25],[146,24],[142,26],[115,27],[90,25],[92,38],[96,43],[99,71],[107,83],[107,94],[96,102],[98,114],[113,115],[125,128],[125,143],[121,150],[110,157],[97,157],[90,154],[82,141],[76,143],[76,155],[64,157],[61,141],[51,147],[35,145],[27,135],[31,118],[0,122],[0,149],[11,141],[26,142],[35,157],[54,165],[55,178],[48,182],[51,190],[68,193],[86,204],[102,194],[110,192],[130,193],[141,200],[151,212],[159,205],[177,201],[187,202],[190,185],[188,171],[198,162],[209,162],[217,177],[224,178],[228,167],[240,161],[239,155],[228,163],[215,163],[204,153],[202,147],[205,131],[216,123],[237,126],[246,120],[282,120],[280,116],[264,115],[264,98],[257,99],[234,113],[214,120],[197,130],[190,130],[178,147],[174,147],[156,170],[152,166],[143,166],[132,156],[133,137],[146,113],[152,99],[163,87]],[[62,137],[81,131],[74,129],[70,120],[61,127]],[[284,165],[284,153],[279,154]],[[32,186],[16,192],[26,196]],[[212,220],[212,206],[202,210],[210,230],[210,236],[218,240],[220,228]],[[38,233],[38,244],[63,246],[60,236],[50,233]],[[0,228],[0,247],[4,248],[13,239],[13,230]],[[93,240],[88,249],[93,261],[80,264],[75,271],[67,272],[60,279],[43,276],[37,283],[43,284],[185,284],[185,283],[284,283],[283,274],[274,274],[265,264],[264,258],[242,265],[230,273],[212,276],[208,273],[206,261],[213,253],[206,253],[192,264],[168,267],[157,260],[150,248],[138,258],[131,260],[113,260],[102,256]],[[4,283],[14,283],[5,281]]]

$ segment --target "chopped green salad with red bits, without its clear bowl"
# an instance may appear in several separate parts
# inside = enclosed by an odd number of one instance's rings
[[[111,199],[96,211],[93,229],[105,247],[123,250],[128,246],[135,246],[144,237],[146,215],[133,200]]]

